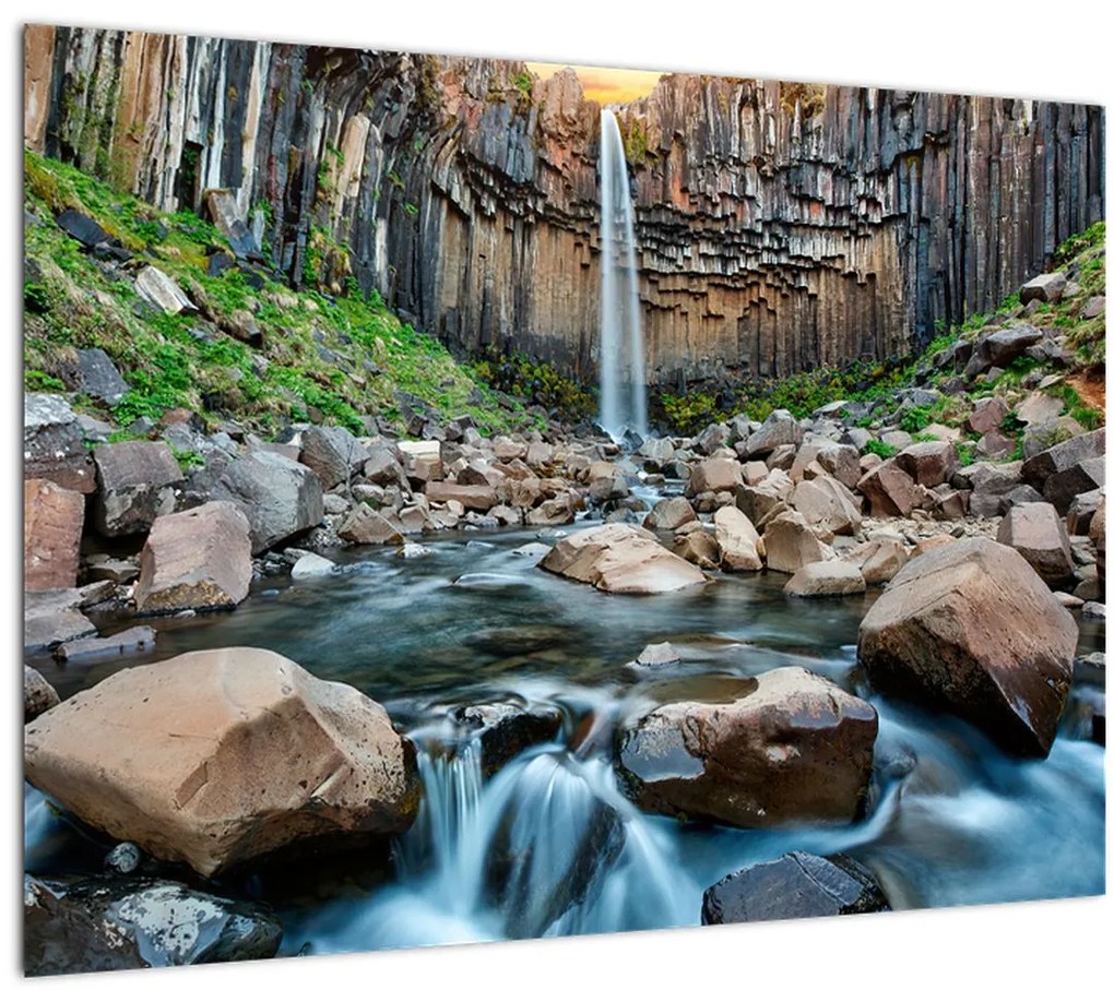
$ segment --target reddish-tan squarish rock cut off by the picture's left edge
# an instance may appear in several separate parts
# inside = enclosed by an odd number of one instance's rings
[[[23,481],[23,588],[77,584],[85,494],[49,480]]]

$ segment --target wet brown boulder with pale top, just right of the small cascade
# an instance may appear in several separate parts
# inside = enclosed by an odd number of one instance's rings
[[[626,728],[626,795],[644,811],[741,827],[852,821],[873,766],[873,707],[799,667],[740,686],[734,701],[672,703]]]

